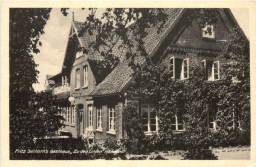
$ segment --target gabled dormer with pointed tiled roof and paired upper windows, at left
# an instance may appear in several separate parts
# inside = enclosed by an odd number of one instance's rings
[[[79,35],[82,27],[82,22],[72,21],[61,73],[69,74],[71,93],[81,90],[88,94],[111,70],[107,65],[102,66],[103,57],[92,49],[96,33]]]

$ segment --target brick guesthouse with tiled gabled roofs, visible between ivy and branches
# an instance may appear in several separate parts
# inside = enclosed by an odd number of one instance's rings
[[[206,67],[206,80],[222,78],[221,64],[224,58],[225,42],[238,24],[229,9],[220,9],[216,25],[199,28],[198,21],[188,21],[190,9],[167,9],[168,21],[160,33],[157,29],[147,28],[144,39],[146,51],[153,62],[169,68],[173,78],[189,78],[189,67],[202,64]],[[126,91],[133,80],[133,70],[129,61],[123,59],[112,71],[100,71],[97,64],[104,59],[96,52],[84,53],[93,36],[79,36],[82,23],[73,21],[66,54],[59,74],[48,77],[54,81],[57,103],[63,108],[65,121],[61,133],[71,133],[80,137],[94,132],[95,139],[121,139],[124,136],[122,112],[126,105]],[[117,47],[113,48],[120,57],[124,55]],[[157,111],[153,104],[141,104],[140,112],[143,130],[146,134],[158,131]],[[183,131],[179,116],[170,125],[175,131]],[[216,127],[215,116],[209,118],[211,128]]]

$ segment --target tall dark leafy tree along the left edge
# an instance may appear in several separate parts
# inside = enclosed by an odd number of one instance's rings
[[[41,118],[39,118],[39,108],[36,103],[42,104],[42,101],[45,101],[44,104],[46,104],[50,95],[36,94],[32,88],[32,84],[38,83],[39,73],[36,70],[37,64],[34,62],[32,54],[38,53],[38,45],[42,45],[39,38],[44,34],[43,28],[50,17],[50,11],[51,9],[48,8],[10,9],[9,125],[11,153],[15,149],[30,148],[36,133],[50,129],[48,127],[49,129],[45,130],[46,127],[42,125],[36,126],[42,121],[38,121]],[[40,101],[38,101],[38,97],[40,97]],[[49,117],[52,116],[52,112],[47,114]],[[58,121],[55,118],[50,120],[52,123],[57,123],[58,126]]]

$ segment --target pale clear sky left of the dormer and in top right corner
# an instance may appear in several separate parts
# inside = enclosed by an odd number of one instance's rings
[[[243,29],[245,35],[249,37],[249,11],[245,8],[231,9],[234,17]],[[52,9],[44,34],[40,40],[42,46],[39,47],[40,53],[34,55],[35,63],[39,70],[38,84],[34,84],[35,91],[44,90],[46,75],[55,75],[61,71],[64,55],[68,42],[68,35],[71,28],[72,12],[76,21],[85,21],[87,11],[82,9],[68,10],[68,16],[63,16],[60,9]],[[100,15],[100,10],[96,14]]]

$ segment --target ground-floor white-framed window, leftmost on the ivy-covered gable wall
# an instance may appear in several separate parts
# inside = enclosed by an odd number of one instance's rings
[[[155,105],[143,104],[141,106],[142,129],[146,133],[158,130],[157,107]]]

